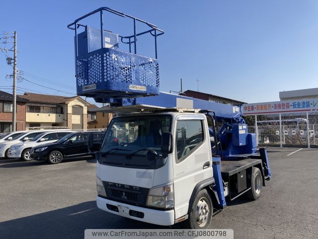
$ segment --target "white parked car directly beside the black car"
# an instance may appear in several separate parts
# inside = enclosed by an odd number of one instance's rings
[[[54,143],[60,138],[64,137],[69,133],[74,131],[70,130],[57,130],[57,131],[48,131],[42,132],[30,141],[23,141],[10,146],[8,151],[9,158],[21,158],[25,161],[31,161],[31,149],[35,146],[41,144]]]

